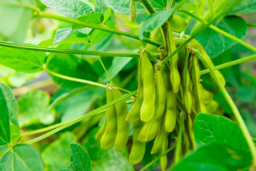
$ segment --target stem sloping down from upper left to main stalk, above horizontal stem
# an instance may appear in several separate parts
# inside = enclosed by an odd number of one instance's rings
[[[119,35],[123,35],[123,36],[131,37],[133,39],[140,40],[139,36],[136,36],[136,35],[131,34],[131,33],[123,32],[123,31],[116,30],[116,29],[111,29],[111,28],[104,27],[104,26],[97,25],[97,24],[83,23],[83,22],[80,22],[79,20],[70,19],[70,18],[67,18],[67,17],[62,17],[62,16],[58,16],[58,15],[54,15],[54,14],[47,14],[47,13],[39,12],[38,17],[55,19],[55,20],[59,20],[59,21],[63,21],[63,22],[76,24],[76,25],[83,26],[83,27],[89,27],[89,28],[92,28],[92,29],[102,30],[102,31],[105,31],[105,32],[115,33],[115,34],[119,34]],[[140,40],[140,41],[151,44],[153,46],[157,46],[157,47],[161,46],[158,43],[152,42],[149,39],[144,39],[144,40]]]

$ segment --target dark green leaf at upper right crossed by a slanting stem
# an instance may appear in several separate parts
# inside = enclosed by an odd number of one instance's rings
[[[227,16],[214,23],[214,26],[239,39],[243,39],[247,33],[246,22],[238,16]],[[230,49],[233,45],[237,44],[236,41],[231,40],[210,28],[197,36],[196,39],[203,45],[204,50],[211,58],[220,55],[224,51]]]

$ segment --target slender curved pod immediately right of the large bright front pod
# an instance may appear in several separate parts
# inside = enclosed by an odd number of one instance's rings
[[[155,110],[154,119],[159,119],[164,114],[165,102],[166,102],[166,89],[163,76],[160,70],[155,66],[155,74],[157,81],[157,108]]]

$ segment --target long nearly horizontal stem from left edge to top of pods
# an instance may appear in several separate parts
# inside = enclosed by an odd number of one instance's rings
[[[86,50],[70,50],[70,49],[56,49],[50,47],[41,47],[34,45],[15,45],[9,42],[0,41],[0,46],[12,47],[16,49],[33,50],[41,52],[51,52],[51,53],[63,53],[63,54],[73,54],[73,55],[94,55],[94,56],[106,56],[106,57],[140,57],[140,53],[121,53],[121,52],[100,52],[100,51],[86,51]]]

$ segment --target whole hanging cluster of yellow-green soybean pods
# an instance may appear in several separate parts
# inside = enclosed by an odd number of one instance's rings
[[[170,53],[186,41],[184,38],[171,38],[171,40]],[[95,137],[101,140],[102,149],[108,149],[114,144],[115,150],[122,150],[128,142],[129,122],[132,122],[133,142],[129,154],[131,164],[138,164],[142,160],[146,143],[153,139],[151,154],[159,150],[164,152],[169,145],[168,134],[174,129],[178,132],[179,122],[176,124],[176,121],[180,119],[178,114],[181,111],[177,105],[178,100],[183,103],[187,112],[185,120],[188,124],[185,132],[188,129],[187,132],[190,134],[188,141],[193,144],[191,129],[193,130],[195,116],[191,111],[214,112],[218,106],[218,103],[213,100],[213,94],[205,90],[200,83],[200,68],[194,53],[195,49],[213,66],[210,57],[196,40],[183,47],[161,69],[158,69],[157,64],[152,65],[144,51],[141,51],[136,102],[129,113],[125,100],[108,107],[104,125]],[[215,72],[225,84],[221,73]],[[121,92],[111,84],[106,86],[106,93],[107,103],[122,97]],[[166,167],[166,155],[160,159],[160,164],[162,168]]]

